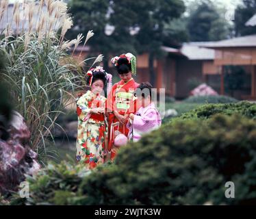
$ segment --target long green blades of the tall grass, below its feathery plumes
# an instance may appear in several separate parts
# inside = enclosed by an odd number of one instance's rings
[[[5,40],[1,41],[2,43]],[[66,51],[56,46],[57,38],[38,40],[31,36],[25,49],[25,36],[9,38],[1,47],[8,58],[3,79],[10,88],[12,103],[20,112],[31,131],[31,147],[44,153],[45,140],[52,136],[55,120],[62,114],[71,92],[77,88],[71,68],[77,69]],[[61,59],[70,60],[60,65]]]

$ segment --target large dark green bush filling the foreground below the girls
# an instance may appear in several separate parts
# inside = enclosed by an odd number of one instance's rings
[[[73,168],[48,168],[31,181],[26,203],[255,204],[255,140],[255,121],[240,115],[176,120],[123,147],[115,164],[82,181]],[[235,198],[225,198],[227,181],[235,183]]]

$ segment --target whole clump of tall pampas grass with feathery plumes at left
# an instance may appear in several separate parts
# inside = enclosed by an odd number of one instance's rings
[[[68,53],[82,43],[84,36],[79,34],[77,39],[65,41],[73,22],[62,1],[15,3],[12,14],[1,1],[0,13],[0,23],[4,16],[12,16],[1,33],[0,49],[8,60],[3,78],[16,110],[29,126],[32,149],[43,157],[47,155],[47,140],[54,141],[55,127],[62,129],[56,123],[57,117],[64,114],[70,98],[75,100],[74,92],[86,85],[81,64],[88,60],[77,63]],[[92,36],[89,31],[84,46]],[[102,55],[90,59],[95,64],[102,61]]]

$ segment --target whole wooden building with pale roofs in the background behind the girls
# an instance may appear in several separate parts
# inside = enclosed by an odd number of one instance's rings
[[[78,47],[74,56],[84,59],[90,48]],[[212,86],[219,94],[225,93],[224,66],[243,66],[249,76],[249,86],[238,90],[235,98],[256,99],[256,35],[220,40],[217,42],[183,43],[180,49],[162,47],[166,56],[154,61],[155,87],[165,88],[166,95],[183,99],[190,94],[188,82],[198,79]],[[81,53],[81,57],[79,54]],[[149,54],[137,56],[136,81],[150,81]],[[109,62],[110,73],[117,76]]]

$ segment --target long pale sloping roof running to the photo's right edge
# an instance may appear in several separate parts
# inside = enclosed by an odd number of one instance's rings
[[[248,36],[240,36],[231,38],[229,40],[220,40],[216,42],[209,42],[202,47],[206,48],[222,48],[222,47],[256,47],[256,34]]]

